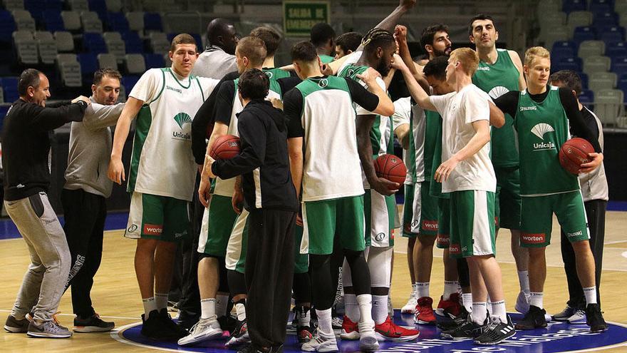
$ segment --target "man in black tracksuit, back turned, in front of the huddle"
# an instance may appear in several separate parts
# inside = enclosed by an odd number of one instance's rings
[[[299,209],[291,180],[284,114],[264,101],[269,79],[263,71],[242,73],[238,83],[244,110],[237,128],[241,152],[230,160],[205,158],[202,178],[243,175],[249,211],[246,254],[247,324],[252,344],[243,352],[278,352],[289,316],[294,272],[294,224]]]

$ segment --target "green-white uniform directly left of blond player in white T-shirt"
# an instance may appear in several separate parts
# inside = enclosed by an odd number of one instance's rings
[[[408,98],[394,102],[396,121],[406,121],[410,128],[409,149],[403,151],[407,178],[405,178],[405,205],[403,207],[403,237],[437,235],[437,198],[429,194],[431,164],[437,125],[440,121]]]

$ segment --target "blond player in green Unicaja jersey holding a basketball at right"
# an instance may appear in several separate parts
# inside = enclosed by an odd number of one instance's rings
[[[521,244],[529,248],[529,311],[517,322],[516,329],[546,327],[542,293],[546,280],[545,250],[551,241],[555,213],[575,253],[577,274],[586,297],[587,324],[591,332],[600,332],[607,329],[607,324],[597,303],[584,201],[576,175],[559,165],[557,155],[570,137],[569,126],[595,150],[589,155],[591,162],[581,165],[580,173],[590,173],[601,165],[601,146],[586,127],[571,91],[547,84],[551,71],[549,51],[541,46],[527,49],[523,70],[528,89],[510,91],[495,101],[514,118],[518,132]]]

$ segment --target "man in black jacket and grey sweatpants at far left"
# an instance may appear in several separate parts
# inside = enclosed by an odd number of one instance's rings
[[[68,280],[70,251],[48,201],[48,132],[70,121],[82,121],[90,101],[80,96],[58,108],[46,107],[50,83],[33,68],[21,73],[18,91],[19,100],[4,118],[4,205],[26,241],[31,265],[4,329],[31,337],[71,337],[72,332],[53,317]]]

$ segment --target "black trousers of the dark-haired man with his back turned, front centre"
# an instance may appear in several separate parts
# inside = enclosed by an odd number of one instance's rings
[[[257,347],[279,347],[285,342],[291,302],[296,213],[255,209],[248,222],[248,332]]]

